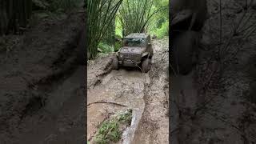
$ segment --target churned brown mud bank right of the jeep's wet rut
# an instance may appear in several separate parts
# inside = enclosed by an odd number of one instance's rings
[[[169,143],[169,42],[154,42],[158,49],[149,72],[150,84],[146,86],[146,103],[132,143]]]

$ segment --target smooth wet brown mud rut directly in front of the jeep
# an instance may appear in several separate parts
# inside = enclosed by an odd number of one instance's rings
[[[133,110],[133,116],[136,119],[134,126],[136,126],[144,110],[144,82],[148,77],[148,74],[142,74],[139,70],[112,70],[110,74],[102,79],[100,84],[92,90],[88,90],[87,105],[92,102],[114,102],[127,106]],[[93,137],[96,133],[98,123],[108,118],[110,114],[127,109],[124,106],[110,105],[107,103],[95,103],[88,106],[87,130],[89,135],[87,138],[91,139]]]

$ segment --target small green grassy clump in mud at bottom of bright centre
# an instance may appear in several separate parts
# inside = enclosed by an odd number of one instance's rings
[[[95,137],[95,142],[98,144],[118,142],[122,136],[120,125],[130,125],[131,119],[132,110],[127,110],[125,114],[119,114],[117,117],[102,122],[102,125],[98,129],[98,134]]]

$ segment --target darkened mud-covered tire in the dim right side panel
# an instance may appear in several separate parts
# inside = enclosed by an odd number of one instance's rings
[[[198,34],[186,31],[178,34],[172,43],[172,67],[176,74],[189,74],[193,68],[193,54],[197,47]]]

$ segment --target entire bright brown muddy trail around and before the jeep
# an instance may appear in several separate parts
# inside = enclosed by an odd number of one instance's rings
[[[111,70],[111,55],[88,64],[87,141],[98,126],[121,110],[132,110],[132,122],[118,143],[168,143],[168,38],[154,40],[154,60],[139,69]]]

